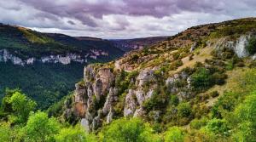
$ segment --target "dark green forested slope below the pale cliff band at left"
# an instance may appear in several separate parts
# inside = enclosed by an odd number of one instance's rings
[[[0,98],[5,88],[20,88],[36,100],[39,109],[47,109],[69,91],[83,77],[84,65],[42,64],[13,65],[0,63]]]

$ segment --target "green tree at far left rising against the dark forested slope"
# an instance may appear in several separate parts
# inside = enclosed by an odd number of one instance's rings
[[[28,99],[25,94],[20,94],[20,92],[15,92],[10,97],[9,104],[12,106],[17,122],[26,122],[30,111],[33,111],[37,105],[35,101]]]

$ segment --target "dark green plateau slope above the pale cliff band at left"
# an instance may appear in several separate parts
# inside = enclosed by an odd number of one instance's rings
[[[79,40],[61,34],[46,34],[22,27],[0,24],[0,49],[8,49],[21,59],[41,58],[51,54],[80,54],[84,56],[90,49],[99,49],[109,53],[102,60],[113,60],[124,54],[119,48],[104,40]],[[108,48],[108,50],[106,50]]]

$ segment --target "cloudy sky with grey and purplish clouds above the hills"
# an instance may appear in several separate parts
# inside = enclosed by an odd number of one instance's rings
[[[256,0],[0,0],[0,22],[70,36],[172,36],[190,26],[256,16]]]

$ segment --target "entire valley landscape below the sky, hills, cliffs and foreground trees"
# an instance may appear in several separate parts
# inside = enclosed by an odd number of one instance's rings
[[[0,27],[5,141],[256,139],[255,18],[113,41]]]

